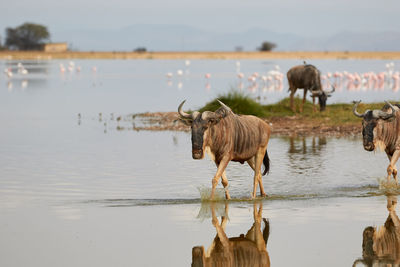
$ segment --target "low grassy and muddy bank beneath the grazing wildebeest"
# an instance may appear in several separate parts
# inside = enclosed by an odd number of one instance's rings
[[[285,98],[282,101],[271,105],[260,105],[251,98],[236,93],[229,93],[218,97],[237,114],[251,114],[263,118],[272,125],[273,135],[288,136],[359,136],[361,135],[361,120],[353,114],[353,104],[331,104],[327,105],[324,112],[313,111],[312,103],[306,102],[302,113],[294,113],[290,109],[290,100]],[[298,106],[302,100],[295,99]],[[392,102],[394,103],[394,102]],[[366,109],[381,109],[384,103],[361,103],[359,112]],[[219,108],[216,100],[207,103],[199,111],[215,111]],[[318,106],[317,106],[318,109]],[[186,111],[189,112],[190,111]],[[170,130],[189,131],[190,127],[179,121],[177,112],[156,112],[137,114],[132,117],[143,123],[137,124],[135,130]],[[123,128],[121,128],[123,129]]]

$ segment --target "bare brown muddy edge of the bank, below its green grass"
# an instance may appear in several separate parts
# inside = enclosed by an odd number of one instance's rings
[[[190,127],[179,121],[177,112],[147,112],[130,115],[136,131],[190,131]],[[273,136],[361,136],[361,123],[346,123],[340,126],[313,122],[300,116],[263,118],[272,126]],[[119,130],[126,128],[119,126]]]

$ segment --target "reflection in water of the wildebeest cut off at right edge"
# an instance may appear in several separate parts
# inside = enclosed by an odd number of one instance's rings
[[[368,226],[363,232],[363,258],[354,262],[365,266],[400,265],[400,220],[396,214],[397,196],[387,197],[389,216],[380,227]]]

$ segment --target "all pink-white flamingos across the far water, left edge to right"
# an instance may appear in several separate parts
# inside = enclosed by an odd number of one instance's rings
[[[184,62],[185,70],[178,69],[176,74],[173,72],[168,72],[166,74],[167,84],[172,86],[173,77],[177,77],[177,87],[182,89],[183,87],[183,77],[190,75],[189,66],[191,65],[190,60]],[[379,72],[369,71],[369,72],[348,72],[348,71],[334,71],[326,72],[321,74],[321,82],[324,88],[330,88],[332,85],[337,91],[347,90],[347,91],[367,91],[367,90],[384,90],[386,88],[397,92],[400,89],[400,71],[395,70],[394,62],[386,64],[386,69]],[[76,66],[73,61],[64,65],[59,64],[59,72],[63,75],[64,73],[80,73],[82,71],[81,66]],[[91,72],[95,74],[97,72],[97,67],[93,66]],[[275,65],[273,69],[258,73],[253,72],[251,74],[245,74],[241,71],[241,64],[239,61],[236,62],[236,82],[237,88],[240,90],[247,89],[249,92],[273,92],[282,91],[284,87],[284,81],[286,80],[286,75],[281,72],[281,68]],[[6,75],[9,83],[9,87],[12,86],[10,82],[11,79],[15,77],[20,77],[23,80],[21,87],[26,87],[27,80],[26,77],[29,74],[28,69],[19,62],[16,68],[7,67],[4,69],[4,74]],[[204,73],[205,88],[207,90],[211,89],[211,79],[213,75],[211,73]],[[215,76],[218,76],[216,74]],[[232,77],[234,79],[234,77]],[[10,89],[10,88],[9,88]]]

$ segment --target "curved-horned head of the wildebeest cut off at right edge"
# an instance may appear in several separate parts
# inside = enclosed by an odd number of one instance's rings
[[[353,113],[357,117],[363,118],[362,121],[362,134],[363,134],[363,145],[364,149],[367,151],[373,151],[376,145],[376,126],[384,123],[385,121],[393,118],[396,113],[396,109],[392,104],[385,101],[385,103],[390,107],[391,112],[386,112],[379,109],[374,110],[366,110],[364,114],[360,114],[357,112],[357,106],[360,104],[360,101],[354,101]],[[386,105],[385,105],[386,107]],[[385,109],[384,107],[384,109]]]

